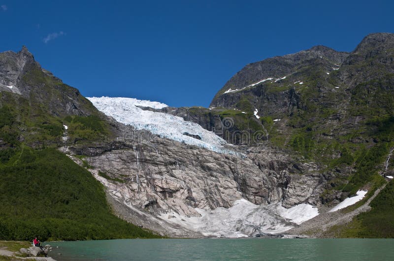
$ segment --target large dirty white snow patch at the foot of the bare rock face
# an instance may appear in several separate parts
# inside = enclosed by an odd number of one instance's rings
[[[183,217],[176,213],[162,214],[168,222],[180,224],[188,229],[202,232],[205,236],[248,237],[257,233],[278,234],[296,224],[319,215],[317,208],[299,204],[286,209],[281,203],[267,206],[255,205],[246,199],[236,200],[230,208],[204,210],[196,208],[201,217]],[[175,218],[168,219],[169,216]]]

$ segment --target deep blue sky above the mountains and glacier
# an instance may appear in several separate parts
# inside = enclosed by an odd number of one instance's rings
[[[23,44],[85,96],[208,107],[248,63],[394,32],[392,1],[0,0],[0,52]]]

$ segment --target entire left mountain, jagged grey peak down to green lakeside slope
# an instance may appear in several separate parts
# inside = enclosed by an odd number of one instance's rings
[[[157,237],[116,217],[102,185],[59,151],[65,140],[103,144],[116,132],[26,47],[0,53],[0,239]]]

